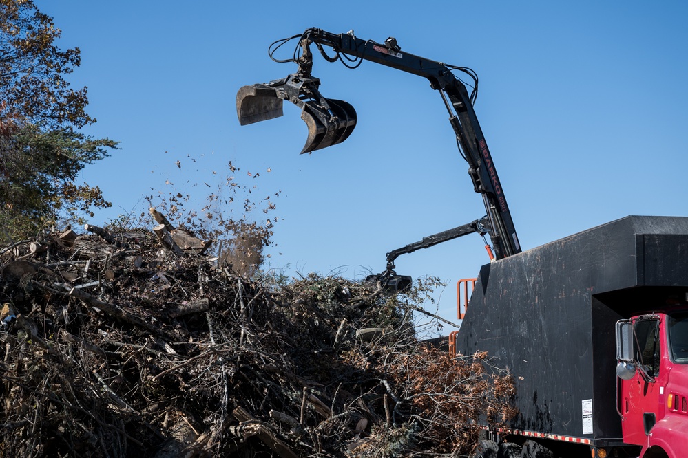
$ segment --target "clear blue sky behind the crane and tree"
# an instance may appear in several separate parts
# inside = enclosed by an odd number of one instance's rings
[[[222,177],[229,160],[261,173],[258,194],[282,191],[270,251],[288,273],[361,278],[384,270],[386,252],[481,217],[441,98],[417,76],[316,56],[322,93],[350,102],[359,124],[310,156],[298,155],[306,126],[294,106],[239,126],[239,87],[295,71],[269,59],[269,44],[309,27],[395,36],[406,52],[477,72],[475,110],[524,249],[626,215],[688,216],[685,1],[37,4],[63,47],[81,48],[71,81],[88,86],[98,119],[86,132],[121,142],[83,171],[114,204],[94,223],[145,211],[142,196],[165,179]],[[437,297],[451,319],[455,281],[487,260],[472,235],[399,257],[397,272],[450,282]]]

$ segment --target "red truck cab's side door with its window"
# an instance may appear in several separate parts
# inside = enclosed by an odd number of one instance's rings
[[[649,430],[658,420],[656,417],[660,398],[660,320],[639,318],[634,322],[633,356],[638,371],[630,380],[622,380],[621,413],[624,441],[641,445]]]

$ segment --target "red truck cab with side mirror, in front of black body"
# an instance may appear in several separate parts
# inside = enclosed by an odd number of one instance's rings
[[[688,453],[688,311],[652,313],[616,325],[617,407],[623,441],[641,457]]]

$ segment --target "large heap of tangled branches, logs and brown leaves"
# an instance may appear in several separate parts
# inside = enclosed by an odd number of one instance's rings
[[[0,248],[0,457],[457,455],[513,415],[417,339],[417,288],[247,279],[161,226]]]

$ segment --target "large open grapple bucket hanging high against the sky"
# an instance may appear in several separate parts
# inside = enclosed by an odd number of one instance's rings
[[[308,126],[308,139],[301,153],[310,153],[341,143],[356,126],[356,111],[344,100],[324,98],[317,87],[320,80],[292,74],[267,84],[244,86],[236,94],[239,124],[253,124],[284,114],[283,100],[301,109]]]

